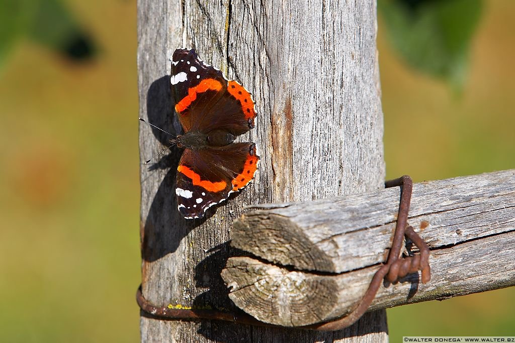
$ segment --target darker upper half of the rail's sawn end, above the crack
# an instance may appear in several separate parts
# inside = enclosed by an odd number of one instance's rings
[[[273,263],[295,266],[296,269],[334,270],[332,258],[311,244],[294,222],[265,211],[249,212],[236,219],[231,245]]]

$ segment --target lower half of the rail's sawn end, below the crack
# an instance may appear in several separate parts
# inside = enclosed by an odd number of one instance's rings
[[[236,306],[266,323],[313,324],[337,304],[337,285],[328,276],[291,272],[248,257],[230,258],[221,275]]]

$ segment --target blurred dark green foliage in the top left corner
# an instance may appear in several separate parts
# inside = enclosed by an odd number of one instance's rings
[[[0,68],[15,43],[28,38],[71,60],[89,59],[96,51],[60,0],[3,0],[0,4]]]

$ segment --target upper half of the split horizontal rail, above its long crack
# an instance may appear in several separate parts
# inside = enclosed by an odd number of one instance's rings
[[[262,210],[234,222],[231,245],[268,261],[319,272],[381,263],[391,245],[399,198],[400,188],[394,187],[260,205]],[[415,184],[408,223],[434,249],[513,230],[514,209],[515,170],[507,170]]]

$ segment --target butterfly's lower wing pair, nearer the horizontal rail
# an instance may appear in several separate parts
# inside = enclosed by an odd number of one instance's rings
[[[211,206],[247,186],[258,169],[254,143],[185,149],[177,168],[177,207],[186,219],[202,218]]]

